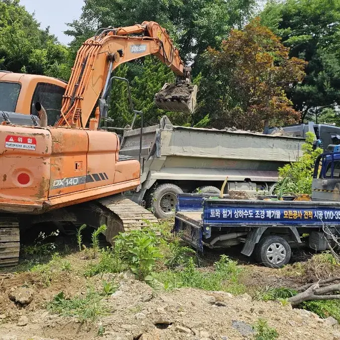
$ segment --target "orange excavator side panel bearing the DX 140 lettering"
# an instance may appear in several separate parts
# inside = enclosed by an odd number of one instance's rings
[[[74,128],[48,128],[52,135],[49,197],[85,189],[87,131]]]

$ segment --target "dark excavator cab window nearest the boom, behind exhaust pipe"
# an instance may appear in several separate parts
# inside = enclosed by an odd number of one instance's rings
[[[31,103],[31,114],[38,116],[34,104],[39,102],[47,113],[47,124],[53,126],[60,115],[61,100],[65,89],[48,83],[38,83]]]

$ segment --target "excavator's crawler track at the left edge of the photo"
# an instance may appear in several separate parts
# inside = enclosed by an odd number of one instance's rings
[[[20,251],[19,223],[15,218],[0,218],[0,267],[18,264]]]

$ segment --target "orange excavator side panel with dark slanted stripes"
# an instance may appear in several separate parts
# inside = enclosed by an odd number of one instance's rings
[[[85,188],[95,188],[114,182],[116,153],[119,141],[116,133],[86,130],[89,136],[87,181]]]

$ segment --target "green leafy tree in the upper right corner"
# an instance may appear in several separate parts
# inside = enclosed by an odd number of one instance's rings
[[[334,107],[340,99],[340,1],[270,1],[261,21],[290,47],[290,56],[308,61],[302,84],[287,90],[301,120]]]

